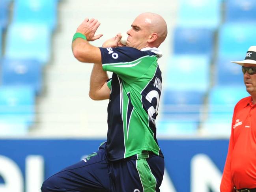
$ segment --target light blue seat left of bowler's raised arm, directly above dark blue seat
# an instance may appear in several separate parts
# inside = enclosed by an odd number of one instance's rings
[[[49,62],[51,35],[47,26],[11,24],[6,38],[6,58],[37,60],[42,64]]]

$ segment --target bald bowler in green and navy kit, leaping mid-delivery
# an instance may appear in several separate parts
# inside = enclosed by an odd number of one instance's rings
[[[136,17],[127,31],[102,47],[89,41],[100,23],[85,19],[73,37],[72,50],[80,62],[94,63],[89,96],[109,99],[107,142],[84,160],[47,179],[42,192],[159,192],[164,157],[157,143],[157,110],[162,88],[157,60],[167,35],[164,19],[154,13]],[[107,71],[112,77],[108,78]],[[95,128],[96,129],[96,128]]]

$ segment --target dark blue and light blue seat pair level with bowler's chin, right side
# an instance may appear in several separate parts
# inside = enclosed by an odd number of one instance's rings
[[[244,57],[244,50],[256,41],[255,25],[225,23],[219,28],[217,55],[219,58]],[[213,55],[215,32],[207,28],[181,28],[174,30],[174,54]]]

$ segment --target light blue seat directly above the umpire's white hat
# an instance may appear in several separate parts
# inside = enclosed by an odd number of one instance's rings
[[[245,58],[248,48],[256,42],[256,26],[245,23],[225,23],[219,31],[220,58]]]

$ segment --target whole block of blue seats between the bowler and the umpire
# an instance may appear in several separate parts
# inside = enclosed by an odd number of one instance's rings
[[[230,61],[244,58],[256,41],[255,2],[180,1],[160,134],[230,133],[234,106],[249,95],[241,66]]]

